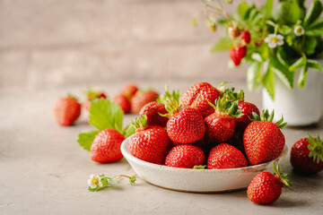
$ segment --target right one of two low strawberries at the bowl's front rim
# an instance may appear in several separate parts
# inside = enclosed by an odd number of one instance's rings
[[[207,159],[207,168],[244,168],[248,166],[242,152],[228,143],[215,146]]]

